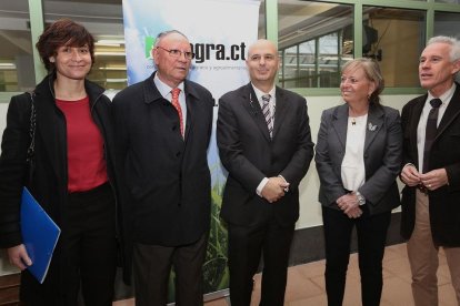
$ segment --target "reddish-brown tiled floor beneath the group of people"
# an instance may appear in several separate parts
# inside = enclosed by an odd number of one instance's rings
[[[357,254],[350,256],[349,273],[343,306],[361,305],[360,279]],[[289,268],[286,303],[288,306],[327,305],[324,293],[324,261],[309,263]],[[256,287],[251,305],[259,305],[261,275],[256,276]],[[389,246],[383,258],[383,294],[381,306],[411,306],[411,274],[406,253],[406,244]],[[440,252],[438,271],[440,306],[458,306],[446,257]],[[113,306],[133,306],[133,299],[113,303]],[[228,306],[228,298],[222,297],[207,302],[206,306]]]

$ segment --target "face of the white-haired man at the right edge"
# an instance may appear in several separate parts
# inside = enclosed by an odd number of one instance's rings
[[[453,84],[453,75],[460,69],[460,61],[451,62],[451,45],[434,42],[424,48],[419,63],[420,85],[440,96]]]

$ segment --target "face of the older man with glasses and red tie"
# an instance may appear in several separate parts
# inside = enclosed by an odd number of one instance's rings
[[[191,59],[183,53],[191,52],[189,40],[179,33],[169,33],[160,38],[156,47],[152,57],[158,69],[158,78],[169,86],[177,88],[189,73]],[[182,53],[174,57],[168,50],[179,50]]]

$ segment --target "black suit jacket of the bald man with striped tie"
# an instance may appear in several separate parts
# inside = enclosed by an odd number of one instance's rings
[[[233,225],[276,221],[289,226],[299,218],[299,184],[313,157],[307,101],[277,88],[272,139],[250,83],[226,93],[219,103],[217,143],[229,172],[221,217]],[[263,177],[282,175],[289,192],[276,204],[256,193]]]

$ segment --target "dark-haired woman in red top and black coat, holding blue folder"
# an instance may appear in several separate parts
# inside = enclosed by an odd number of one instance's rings
[[[37,49],[49,74],[33,91],[33,171],[28,175],[31,96],[11,99],[0,157],[0,246],[22,271],[24,305],[112,305],[117,266],[113,126],[104,90],[86,80],[94,40],[80,24],[58,20]],[[20,230],[22,186],[60,226],[61,235],[43,284],[28,272],[32,263]],[[22,305],[21,304],[21,305]]]

